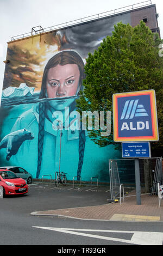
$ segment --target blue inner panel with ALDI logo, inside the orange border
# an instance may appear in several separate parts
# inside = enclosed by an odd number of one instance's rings
[[[117,103],[120,137],[152,136],[150,95],[121,97]]]

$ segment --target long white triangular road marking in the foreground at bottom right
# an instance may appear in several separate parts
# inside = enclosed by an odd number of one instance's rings
[[[36,226],[33,226],[33,228],[59,231],[62,233],[93,237],[93,238],[103,239],[103,240],[131,243],[133,245],[162,245],[162,241],[163,241],[163,233],[159,233],[159,232],[122,231],[122,230],[105,230],[105,229],[103,230],[103,229],[52,228],[52,227],[36,227]],[[115,238],[115,237],[85,234],[85,233],[80,233],[78,231],[105,232],[105,233],[128,233],[128,234],[133,234],[133,236],[131,237],[131,240],[126,240],[126,239],[119,239],[119,238]]]

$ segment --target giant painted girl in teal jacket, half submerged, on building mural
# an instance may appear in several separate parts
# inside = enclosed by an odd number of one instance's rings
[[[17,117],[7,136],[8,165],[28,170],[33,178],[43,175],[54,178],[60,167],[68,180],[79,176],[90,180],[108,172],[107,157],[114,154],[111,146],[100,148],[93,143],[80,122],[75,129],[69,129],[74,124],[71,113],[75,112],[84,78],[84,61],[78,52],[60,51],[48,60],[39,99]],[[56,111],[62,113],[61,120],[54,115]],[[54,129],[55,120],[61,121],[61,131]]]

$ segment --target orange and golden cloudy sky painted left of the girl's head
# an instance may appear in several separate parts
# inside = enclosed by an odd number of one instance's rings
[[[7,58],[10,59],[10,64],[5,70],[3,89],[26,83],[27,86],[34,87],[35,92],[39,91],[43,69],[59,48],[60,36],[54,32],[9,43]]]

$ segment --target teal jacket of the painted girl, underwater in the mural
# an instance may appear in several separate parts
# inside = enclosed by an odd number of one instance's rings
[[[115,159],[119,154],[112,145],[100,148],[91,141],[86,131],[85,136],[80,138],[78,130],[54,130],[53,120],[47,118],[44,120],[43,140],[41,139],[39,143],[38,105],[33,105],[16,120],[11,132],[26,129],[34,138],[27,139],[21,144],[17,153],[10,157],[10,165],[26,169],[32,173],[33,178],[42,178],[43,175],[52,175],[54,178],[55,172],[59,172],[60,162],[60,170],[67,173],[68,180],[77,179],[79,175],[85,181],[90,181],[94,176],[98,176],[101,181],[109,180],[108,161]],[[60,132],[62,132],[61,151]],[[38,175],[39,147],[42,148],[42,154]]]

